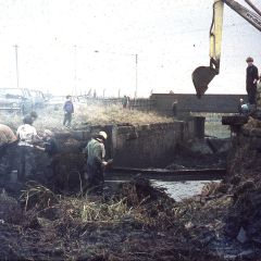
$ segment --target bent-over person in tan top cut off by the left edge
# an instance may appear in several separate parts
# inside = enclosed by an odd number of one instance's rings
[[[0,176],[3,182],[9,181],[12,170],[15,167],[15,151],[17,138],[13,130],[0,124]]]

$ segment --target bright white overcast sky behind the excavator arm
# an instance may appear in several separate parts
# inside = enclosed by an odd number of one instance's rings
[[[119,90],[134,97],[136,88],[138,97],[194,94],[192,71],[209,64],[212,3],[0,0],[0,87],[17,86],[17,45],[21,88],[54,95],[96,89],[110,97]],[[261,34],[225,7],[221,72],[208,94],[244,94],[246,58],[261,71],[260,44]]]

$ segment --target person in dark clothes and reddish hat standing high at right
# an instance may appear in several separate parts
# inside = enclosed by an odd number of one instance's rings
[[[250,104],[256,104],[257,97],[257,83],[259,79],[258,67],[253,65],[253,59],[247,58],[247,78],[246,78],[246,89],[248,94],[248,102]]]

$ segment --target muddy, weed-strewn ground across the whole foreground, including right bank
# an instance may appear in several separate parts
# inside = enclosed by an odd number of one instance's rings
[[[38,183],[15,197],[3,191],[1,259],[261,260],[260,159],[237,137],[227,179],[181,202],[142,178],[103,197],[58,195]]]

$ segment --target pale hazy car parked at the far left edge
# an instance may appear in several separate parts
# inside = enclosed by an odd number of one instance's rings
[[[0,111],[26,114],[32,110],[33,100],[28,89],[0,88]]]

